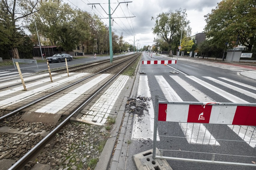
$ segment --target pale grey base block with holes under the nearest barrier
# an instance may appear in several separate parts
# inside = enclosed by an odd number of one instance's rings
[[[156,150],[160,155],[160,151]],[[138,170],[172,170],[166,160],[153,159],[153,149],[133,155],[133,161]]]

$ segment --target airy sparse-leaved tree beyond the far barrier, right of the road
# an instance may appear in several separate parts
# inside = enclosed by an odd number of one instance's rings
[[[176,47],[178,37],[181,37],[182,25],[183,36],[190,34],[191,28],[189,26],[190,21],[186,19],[186,11],[182,12],[181,9],[173,12],[170,10],[166,13],[160,13],[157,15],[156,22],[152,28],[153,34],[158,37],[162,37],[168,43],[168,51],[172,50],[172,46]],[[152,17],[154,19],[154,17]]]

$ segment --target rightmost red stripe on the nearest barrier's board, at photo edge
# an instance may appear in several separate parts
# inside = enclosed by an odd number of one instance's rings
[[[232,125],[256,126],[256,107],[237,106]]]

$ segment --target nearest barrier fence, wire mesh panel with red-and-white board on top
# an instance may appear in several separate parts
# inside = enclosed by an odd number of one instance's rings
[[[155,101],[154,159],[256,166],[256,104]]]

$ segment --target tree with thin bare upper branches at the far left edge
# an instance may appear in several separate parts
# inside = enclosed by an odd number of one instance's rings
[[[7,19],[9,22],[8,25],[5,25],[3,34],[7,37],[2,37],[6,44],[9,44],[12,52],[13,58],[20,58],[17,47],[20,45],[20,37],[22,33],[23,25],[17,25],[17,22],[23,23],[26,21],[26,18],[31,14],[38,11],[38,1],[39,0],[1,0],[1,19],[4,21]],[[4,11],[4,12],[3,12]],[[1,28],[0,28],[1,29]]]

